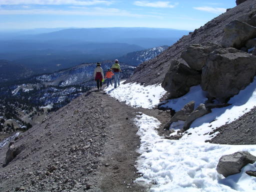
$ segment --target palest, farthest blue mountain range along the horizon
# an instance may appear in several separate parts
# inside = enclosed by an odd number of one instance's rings
[[[39,30],[39,29],[38,29]],[[52,32],[36,34],[36,30],[24,35],[19,32],[11,39],[22,40],[72,40],[77,42],[122,42],[136,44],[144,48],[171,45],[182,35],[188,34],[188,30],[171,28],[147,28],[147,27],[105,27],[105,28],[68,28]],[[40,29],[39,31],[43,31]],[[44,29],[44,31],[47,31]],[[48,30],[49,31],[49,30]],[[7,38],[5,38],[7,39]]]

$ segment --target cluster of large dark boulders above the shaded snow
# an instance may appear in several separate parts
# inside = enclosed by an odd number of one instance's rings
[[[254,42],[255,39],[250,39],[246,44],[254,46]],[[255,56],[211,42],[191,44],[181,57],[189,66],[171,61],[162,82],[162,87],[170,93],[169,98],[180,97],[190,86],[200,83],[209,98],[225,102],[245,88],[256,74]]]

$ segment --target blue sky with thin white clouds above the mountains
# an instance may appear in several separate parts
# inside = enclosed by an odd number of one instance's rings
[[[0,29],[157,27],[193,30],[235,0],[0,0]]]

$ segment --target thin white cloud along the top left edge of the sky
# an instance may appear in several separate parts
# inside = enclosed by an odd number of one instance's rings
[[[39,4],[39,5],[95,5],[95,4],[111,4],[111,0],[0,0],[1,5],[17,5],[17,4]]]

